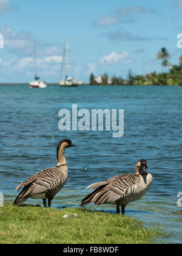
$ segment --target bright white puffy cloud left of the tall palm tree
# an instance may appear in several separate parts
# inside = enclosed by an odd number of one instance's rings
[[[122,53],[113,51],[113,52],[110,52],[110,54],[104,56],[102,59],[100,59],[99,63],[101,65],[117,64],[117,63],[120,63],[121,60],[125,59],[127,56],[129,56],[129,52],[127,51],[123,51]]]

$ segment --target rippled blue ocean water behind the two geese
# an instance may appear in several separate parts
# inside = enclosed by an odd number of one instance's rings
[[[64,131],[58,129],[59,110],[86,108],[124,109],[124,135],[113,131]],[[70,138],[75,148],[66,150],[69,178],[52,206],[78,207],[90,183],[135,172],[145,158],[153,176],[152,186],[139,201],[126,207],[146,226],[159,226],[169,233],[164,243],[182,242],[182,87],[0,86],[0,192],[13,201],[15,188],[35,172],[56,165],[56,146]],[[29,199],[28,204],[42,201]],[[182,204],[182,201],[181,201]],[[115,206],[92,206],[115,212]],[[163,239],[163,238],[161,238]]]

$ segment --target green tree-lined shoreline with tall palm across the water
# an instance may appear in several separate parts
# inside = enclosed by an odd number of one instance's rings
[[[95,77],[90,75],[90,85],[182,85],[182,56],[180,57],[180,65],[171,65],[169,63],[170,55],[166,48],[161,48],[157,54],[157,59],[162,60],[162,72],[156,73],[153,71],[150,74],[132,75],[129,70],[127,79],[113,76],[109,78],[107,73],[102,76]],[[170,67],[169,67],[170,66]],[[169,67],[169,71],[164,72],[164,69]]]

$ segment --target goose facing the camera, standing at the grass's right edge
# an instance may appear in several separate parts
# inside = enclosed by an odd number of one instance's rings
[[[115,204],[116,213],[120,213],[121,205],[124,215],[126,205],[140,199],[152,183],[152,175],[146,172],[147,166],[146,160],[141,159],[136,163],[135,174],[122,174],[104,182],[93,183],[87,188],[96,190],[86,196],[80,206],[93,202],[96,205]]]

